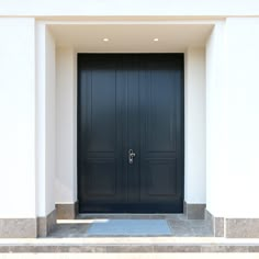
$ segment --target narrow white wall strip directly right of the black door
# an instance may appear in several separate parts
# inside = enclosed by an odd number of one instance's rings
[[[184,200],[205,204],[205,49],[189,48],[184,63]]]

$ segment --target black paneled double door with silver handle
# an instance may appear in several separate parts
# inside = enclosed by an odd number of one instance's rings
[[[183,206],[183,55],[78,54],[79,212]]]

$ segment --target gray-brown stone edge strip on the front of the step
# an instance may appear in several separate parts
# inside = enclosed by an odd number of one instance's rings
[[[0,254],[22,252],[259,252],[259,245],[249,244],[119,244],[119,245],[0,245]]]

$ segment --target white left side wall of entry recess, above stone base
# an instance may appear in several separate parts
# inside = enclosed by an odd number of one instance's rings
[[[45,26],[37,32],[37,216],[46,216],[55,209],[54,182],[56,173],[56,79],[55,42]]]

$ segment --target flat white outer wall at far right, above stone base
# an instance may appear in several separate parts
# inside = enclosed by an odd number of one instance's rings
[[[259,18],[226,20],[227,217],[259,217]]]

